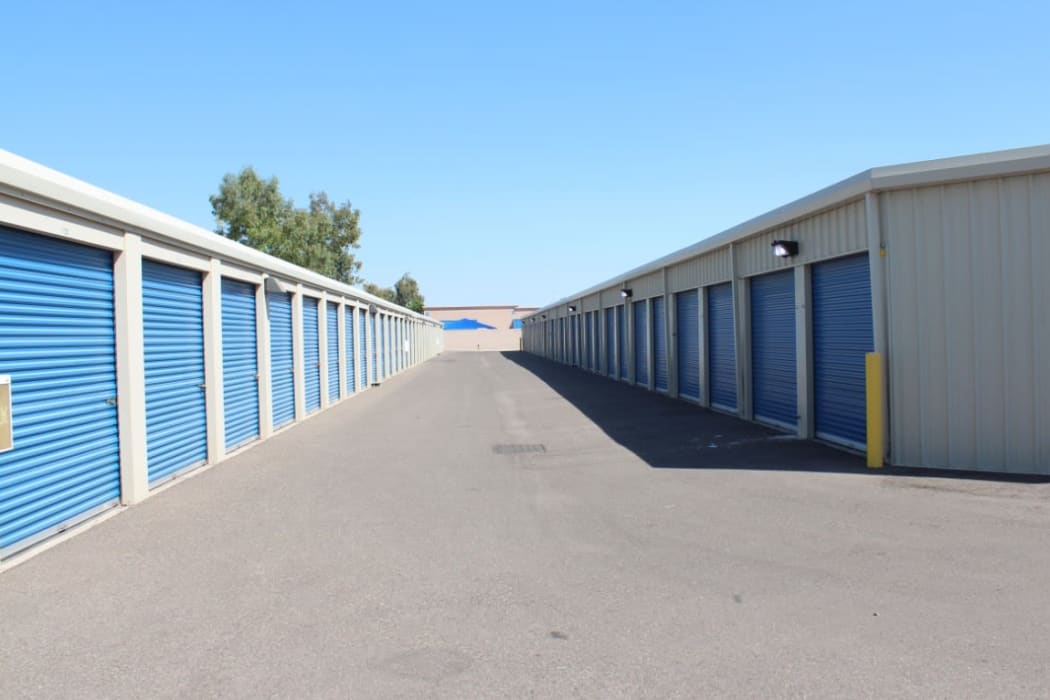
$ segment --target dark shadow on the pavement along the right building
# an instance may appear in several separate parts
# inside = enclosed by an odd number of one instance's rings
[[[528,353],[502,355],[532,373],[610,438],[655,469],[750,469],[938,476],[996,482],[1048,483],[1038,475],[950,469],[885,467],[814,440],[668,398]]]

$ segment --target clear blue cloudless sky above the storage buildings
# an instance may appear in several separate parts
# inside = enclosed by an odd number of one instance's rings
[[[8,3],[0,147],[206,228],[253,165],[369,280],[542,304],[877,165],[1050,142],[1046,2]]]

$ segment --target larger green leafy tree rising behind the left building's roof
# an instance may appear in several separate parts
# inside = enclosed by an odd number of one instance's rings
[[[276,177],[262,179],[251,166],[227,173],[209,201],[216,233],[339,281],[360,281],[352,251],[360,246],[361,212],[349,201],[312,193],[310,206],[297,209]]]

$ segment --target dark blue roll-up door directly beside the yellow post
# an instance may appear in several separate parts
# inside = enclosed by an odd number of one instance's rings
[[[864,355],[875,349],[867,255],[813,266],[813,389],[818,438],[867,444]]]

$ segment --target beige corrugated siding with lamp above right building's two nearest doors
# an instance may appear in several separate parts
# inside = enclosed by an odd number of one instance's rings
[[[773,255],[773,241],[777,239],[799,241],[798,255]],[[747,277],[866,250],[864,200],[859,199],[740,241],[736,245],[736,264],[739,274]]]

